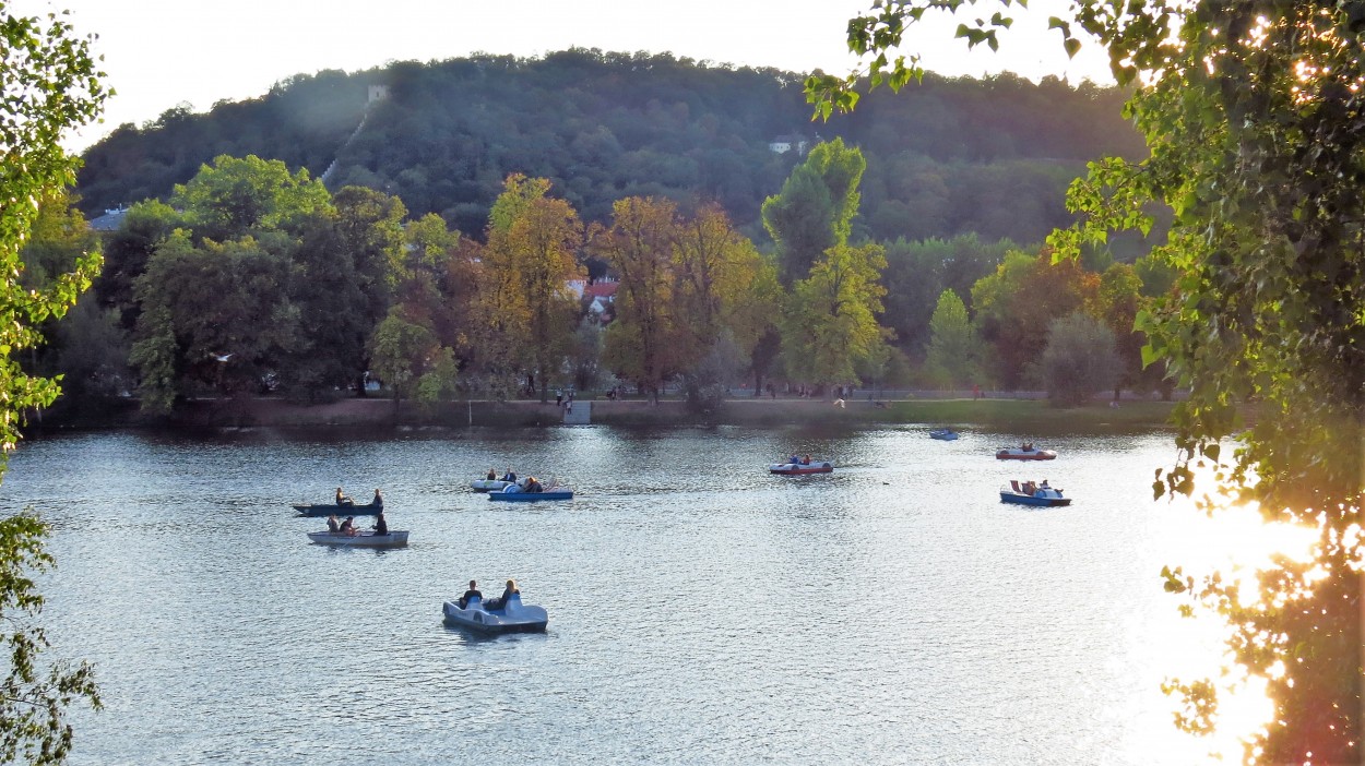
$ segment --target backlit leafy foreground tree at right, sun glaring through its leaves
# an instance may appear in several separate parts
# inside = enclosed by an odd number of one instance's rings
[[[931,3],[879,4],[849,25],[876,56],[871,82],[904,85],[913,59],[885,50]],[[961,3],[949,3],[957,8]],[[983,14],[984,16],[984,14]],[[1072,187],[1081,224],[1051,239],[1059,255],[1111,230],[1149,230],[1148,204],[1173,210],[1155,255],[1177,273],[1173,294],[1138,320],[1148,361],[1164,360],[1190,395],[1177,405],[1179,459],[1153,492],[1200,506],[1256,502],[1271,521],[1314,527],[1313,560],[1279,560],[1256,598],[1216,572],[1177,567],[1166,587],[1224,616],[1233,661],[1264,680],[1274,711],[1248,761],[1358,763],[1362,746],[1360,512],[1365,465],[1365,70],[1360,3],[1215,4],[1078,0],[1055,19],[1069,52],[1084,31],[1110,55],[1149,157],[1092,164]],[[995,45],[1009,12],[961,26]],[[856,79],[856,78],[854,78]],[[811,91],[838,89],[812,78]],[[852,106],[835,93],[820,110]],[[1257,417],[1242,420],[1249,402]],[[1237,440],[1231,454],[1223,440]],[[1190,605],[1186,605],[1190,607]],[[1211,731],[1226,681],[1173,681],[1181,725]]]

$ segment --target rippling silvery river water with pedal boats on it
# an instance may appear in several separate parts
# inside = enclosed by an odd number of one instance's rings
[[[25,443],[0,510],[53,526],[44,623],[97,667],[71,763],[1192,763],[1158,572],[1209,544],[1151,500],[1168,435],[927,429],[238,431]],[[777,477],[779,455],[831,459]],[[495,468],[569,503],[490,503]],[[999,502],[1048,478],[1069,508]],[[288,503],[382,487],[407,549]],[[1201,537],[1208,536],[1208,537]],[[516,578],[546,634],[441,622]]]

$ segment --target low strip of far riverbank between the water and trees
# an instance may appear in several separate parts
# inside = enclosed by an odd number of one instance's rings
[[[854,428],[886,424],[975,425],[1013,431],[1080,431],[1106,432],[1166,427],[1173,402],[1123,401],[1119,406],[1095,402],[1081,408],[1055,408],[1033,398],[1006,399],[904,399],[848,401],[842,405],[824,399],[736,398],[726,399],[711,413],[689,412],[682,401],[657,405],[643,399],[580,401],[591,406],[591,423],[628,427],[676,425],[849,425]],[[293,405],[283,399],[198,399],[188,402],[173,418],[153,420],[138,414],[126,402],[81,417],[46,417],[31,421],[37,431],[101,428],[420,428],[420,427],[554,427],[562,425],[564,412],[551,403],[535,401],[461,401],[422,406],[389,399],[343,399],[326,405]]]

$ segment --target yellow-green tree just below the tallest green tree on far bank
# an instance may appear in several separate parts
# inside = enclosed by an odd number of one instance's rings
[[[872,353],[885,333],[876,322],[885,267],[880,245],[839,245],[792,288],[782,349],[793,378],[820,386],[854,379],[854,363]]]

